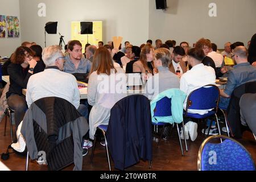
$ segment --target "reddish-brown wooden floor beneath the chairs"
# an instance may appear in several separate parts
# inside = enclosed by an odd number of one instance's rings
[[[10,127],[7,125],[7,132],[6,137],[3,137],[3,128],[4,128],[4,119],[0,123],[0,153],[6,152],[7,146],[9,146],[11,142],[10,137]],[[199,123],[198,137],[194,142],[188,140],[188,152],[185,152],[184,156],[181,156],[179,140],[177,137],[177,131],[174,130],[172,135],[169,137],[168,140],[162,140],[160,146],[157,146],[157,142],[155,141],[155,137],[152,141],[153,146],[153,160],[152,160],[152,169],[148,168],[148,163],[139,162],[132,167],[127,168],[127,171],[191,171],[197,170],[197,152],[199,151],[199,147],[205,137],[200,132],[203,123]],[[175,128],[176,129],[176,128]],[[153,135],[154,136],[154,135]],[[256,162],[256,142],[253,138],[253,135],[249,132],[245,132],[243,134],[243,138],[238,140],[240,143],[245,146],[245,148],[251,153],[253,156],[254,162]],[[183,140],[184,142],[184,140]],[[106,151],[105,147],[101,146],[100,143],[96,144],[96,150],[94,152],[94,159],[93,164],[90,164],[90,154],[92,149],[90,148],[88,155],[84,156],[83,158],[83,166],[82,170],[85,171],[102,171],[108,170],[108,161],[106,158]],[[1,160],[7,167],[11,170],[24,170],[26,164],[26,157],[25,156],[18,156],[16,154],[10,154],[10,158],[8,160]],[[113,160],[112,162],[112,169],[114,169]],[[30,170],[34,171],[45,171],[47,170],[46,166],[39,165],[35,162],[30,162],[29,166]],[[64,168],[63,170],[72,170],[73,164]]]

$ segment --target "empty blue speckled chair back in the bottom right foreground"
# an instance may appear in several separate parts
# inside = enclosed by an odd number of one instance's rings
[[[220,139],[222,143],[215,142]],[[214,143],[210,143],[213,140]],[[254,161],[246,148],[224,135],[204,140],[199,149],[197,167],[199,171],[255,171]]]

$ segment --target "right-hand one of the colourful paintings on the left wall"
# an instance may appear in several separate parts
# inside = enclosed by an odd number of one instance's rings
[[[7,16],[7,32],[9,38],[19,37],[19,19],[17,16]]]

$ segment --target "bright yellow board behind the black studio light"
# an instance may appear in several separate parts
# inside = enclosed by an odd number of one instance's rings
[[[90,21],[93,22],[93,34],[82,34],[80,22],[71,22],[71,40],[79,40],[82,44],[82,50],[84,51],[85,44],[98,46],[98,42],[102,41],[102,21]],[[88,36],[88,40],[87,40]]]

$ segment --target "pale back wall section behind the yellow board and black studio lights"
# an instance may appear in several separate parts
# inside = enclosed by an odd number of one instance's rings
[[[46,3],[46,17],[38,16],[38,4]],[[36,42],[44,47],[44,26],[58,22],[57,32],[71,39],[72,21],[103,21],[103,41],[123,36],[141,45],[148,38],[148,0],[20,0],[22,41]],[[59,44],[59,34],[46,35],[47,46]]]

